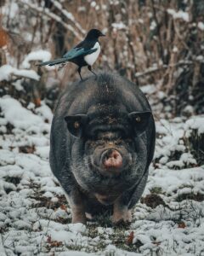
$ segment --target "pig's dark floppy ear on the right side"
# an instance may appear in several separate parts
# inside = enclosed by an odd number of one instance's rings
[[[146,130],[151,114],[152,113],[150,111],[128,113],[128,117],[131,119],[136,137],[142,135]]]

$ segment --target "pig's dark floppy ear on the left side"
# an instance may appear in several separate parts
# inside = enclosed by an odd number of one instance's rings
[[[82,137],[82,131],[84,126],[88,122],[87,114],[76,114],[76,115],[67,115],[65,117],[65,122],[67,125],[68,131],[75,137]]]

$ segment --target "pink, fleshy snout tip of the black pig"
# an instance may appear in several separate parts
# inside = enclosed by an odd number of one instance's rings
[[[101,166],[105,169],[120,169],[122,167],[122,155],[116,149],[107,149],[101,154]]]

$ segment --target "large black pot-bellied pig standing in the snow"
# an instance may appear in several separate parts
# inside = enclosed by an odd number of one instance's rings
[[[113,222],[130,221],[154,148],[150,105],[135,84],[106,73],[65,90],[54,113],[50,165],[71,205],[72,222],[85,223],[85,212],[107,209]]]

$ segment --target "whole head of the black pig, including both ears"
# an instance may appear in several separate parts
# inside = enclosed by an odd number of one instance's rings
[[[145,169],[142,139],[150,111],[123,113],[120,117],[74,115],[65,117],[76,138],[71,158],[74,176],[84,189],[103,193],[137,183]],[[111,189],[110,189],[111,190]]]

